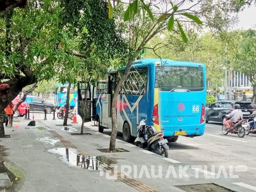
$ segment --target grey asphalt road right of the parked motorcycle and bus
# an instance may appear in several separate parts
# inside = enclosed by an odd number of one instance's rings
[[[110,135],[111,129],[104,129],[103,133]],[[118,133],[117,138],[123,139],[122,133]],[[231,133],[223,135],[221,123],[209,122],[203,136],[180,136],[177,142],[169,143],[169,147],[172,160],[202,166],[204,170],[214,172],[215,177],[219,171],[223,177],[223,170],[226,170],[229,179],[231,171],[232,175],[238,175],[238,185],[256,191],[256,134],[245,135],[244,138]]]

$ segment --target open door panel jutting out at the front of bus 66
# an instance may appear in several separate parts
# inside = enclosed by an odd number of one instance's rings
[[[78,114],[84,118],[84,122],[91,121],[91,94],[90,86],[79,83],[78,86]]]

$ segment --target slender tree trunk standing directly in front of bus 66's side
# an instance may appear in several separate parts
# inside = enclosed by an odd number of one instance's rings
[[[109,143],[109,151],[115,151],[116,150],[116,137],[117,137],[117,114],[116,114],[116,103],[117,103],[117,97],[121,90],[121,87],[123,85],[123,82],[127,79],[130,68],[132,65],[132,59],[128,61],[128,64],[126,65],[125,72],[123,74],[123,77],[118,81],[117,87],[115,89],[115,92],[113,94],[112,98],[112,106],[111,106],[111,122],[112,122],[112,131],[111,131],[111,137],[110,137],[110,143]]]

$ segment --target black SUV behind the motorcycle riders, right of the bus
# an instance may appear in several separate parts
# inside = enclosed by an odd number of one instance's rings
[[[231,113],[235,104],[240,104],[244,119],[255,110],[251,103],[246,101],[216,101],[206,108],[206,123],[208,121],[222,123],[225,115]]]

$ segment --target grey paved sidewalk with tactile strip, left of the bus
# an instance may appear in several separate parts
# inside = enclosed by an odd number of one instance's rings
[[[36,119],[44,119],[44,114],[38,114]],[[18,177],[14,181],[13,190],[20,192],[184,192],[175,187],[178,185],[191,185],[200,183],[216,183],[234,191],[242,191],[241,187],[231,184],[237,182],[236,179],[206,179],[202,172],[198,172],[195,178],[195,170],[187,168],[188,177],[175,177],[173,171],[178,174],[181,167],[188,165],[177,162],[169,153],[170,158],[163,158],[157,154],[148,152],[141,148],[117,139],[116,148],[123,148],[129,152],[102,153],[98,149],[108,148],[110,136],[98,133],[98,128],[92,126],[92,122],[85,123],[84,135],[72,135],[80,133],[81,119],[79,123],[71,123],[68,126],[61,126],[63,120],[51,120],[52,116],[47,116],[48,120],[36,120],[36,126],[29,127],[30,122],[24,118],[15,118],[13,128],[5,128],[5,134],[10,134],[10,138],[0,139],[0,145],[5,146],[6,156],[3,158],[10,170]],[[77,131],[76,131],[77,130]],[[61,155],[62,154],[62,155]],[[87,158],[82,161],[84,154]],[[85,158],[86,159],[86,158]],[[97,162],[101,164],[97,165]],[[79,166],[85,165],[89,169]],[[123,165],[136,167],[131,179],[110,180],[106,178],[106,173],[100,176],[99,169],[109,164],[117,164],[118,171]],[[163,178],[148,178],[148,175],[141,174],[143,169],[148,170],[149,175],[158,175],[161,171]],[[154,166],[154,167],[152,167]],[[168,173],[168,167],[173,167]],[[98,170],[95,170],[98,169]],[[145,170],[144,169],[144,170]],[[127,170],[126,170],[127,171]],[[169,170],[170,172],[170,170]],[[168,175],[168,178],[165,178]],[[135,176],[135,177],[134,177]]]

